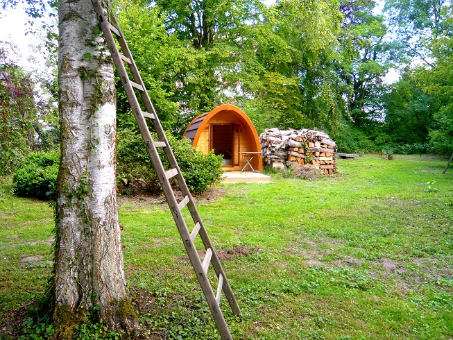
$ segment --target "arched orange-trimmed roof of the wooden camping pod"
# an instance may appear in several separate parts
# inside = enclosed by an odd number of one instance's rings
[[[196,147],[198,144],[198,139],[200,139],[200,135],[207,126],[207,124],[210,124],[210,122],[214,118],[216,124],[219,124],[219,121],[221,121],[222,114],[225,113],[233,114],[236,117],[237,123],[243,125],[243,128],[248,129],[250,133],[252,133],[255,150],[249,151],[261,151],[261,144],[259,143],[258,133],[257,130],[255,129],[255,126],[253,126],[252,121],[250,121],[250,118],[248,118],[245,112],[243,112],[240,108],[232,104],[220,105],[214,108],[214,110],[212,110],[209,113],[200,114],[193,121],[191,121],[189,126],[187,126],[184,136],[189,138],[192,142],[192,145]],[[228,123],[231,123],[231,121],[228,121]]]

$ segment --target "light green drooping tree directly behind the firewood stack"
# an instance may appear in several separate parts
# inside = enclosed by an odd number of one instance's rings
[[[342,20],[339,2],[284,0],[274,9],[276,34],[291,46],[280,73],[297,80],[300,100],[298,116],[287,127],[320,128],[335,136],[345,92],[334,69]]]

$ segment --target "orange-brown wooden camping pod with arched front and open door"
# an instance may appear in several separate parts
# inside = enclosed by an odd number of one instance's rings
[[[261,152],[261,144],[255,126],[241,109],[231,104],[220,105],[209,113],[200,114],[187,129],[184,136],[198,150],[223,155],[225,170],[242,169],[243,152]],[[262,158],[255,155],[251,162],[260,173]]]

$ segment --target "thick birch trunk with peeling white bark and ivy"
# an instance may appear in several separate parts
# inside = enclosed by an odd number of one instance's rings
[[[54,321],[62,338],[89,312],[135,328],[121,253],[115,185],[112,60],[90,0],[60,0],[58,174]]]

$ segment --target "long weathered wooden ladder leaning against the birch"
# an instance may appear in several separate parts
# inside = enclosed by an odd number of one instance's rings
[[[151,161],[153,162],[153,166],[157,173],[157,176],[159,177],[162,189],[164,190],[166,201],[169,204],[171,214],[173,215],[173,219],[176,223],[176,226],[178,227],[182,242],[184,243],[184,246],[187,250],[187,255],[189,255],[190,262],[194,267],[194,271],[196,273],[198,281],[200,282],[203,294],[205,294],[207,304],[210,306],[211,314],[212,316],[214,316],[214,320],[216,321],[216,325],[221,334],[221,338],[224,340],[230,340],[232,339],[232,336],[225,321],[225,317],[223,316],[223,313],[220,309],[221,291],[223,290],[223,292],[225,293],[225,296],[228,299],[228,303],[230,304],[230,307],[234,314],[241,314],[241,309],[239,309],[239,306],[237,305],[236,298],[234,297],[225,272],[223,271],[222,266],[219,262],[219,257],[217,257],[216,255],[216,251],[212,246],[210,237],[207,235],[203,221],[198,214],[194,199],[192,198],[189,189],[187,189],[186,182],[182,177],[180,168],[178,167],[178,162],[176,162],[173,151],[171,151],[162,125],[160,124],[159,118],[157,117],[157,114],[154,110],[153,103],[151,103],[148,92],[146,91],[145,85],[142,81],[142,77],[140,76],[137,66],[135,65],[133,56],[131,55],[128,48],[128,44],[123,37],[123,33],[121,33],[117,18],[114,17],[110,7],[103,8],[100,0],[92,0],[92,3],[96,15],[99,19],[99,24],[101,25],[105,41],[108,44],[108,48],[110,49],[110,53],[112,54],[114,64],[117,67],[119,78],[121,79],[121,84],[123,85],[124,90],[126,91],[126,95],[128,96],[128,101],[130,103],[130,107],[133,110],[139,131],[142,134],[146,148],[148,150],[148,154],[151,158]],[[119,52],[114,36],[119,43],[122,53]],[[129,79],[128,73],[124,66],[125,64],[128,65],[130,73],[133,75],[133,80]],[[139,92],[139,94],[142,96],[145,110],[142,110],[137,96],[135,95],[135,90],[137,90],[137,92]],[[151,120],[155,133],[157,134],[157,137],[159,139],[158,141],[153,141],[145,118]],[[164,169],[162,161],[160,160],[160,156],[157,153],[157,148],[164,149],[166,158],[168,158],[171,165],[170,170],[166,171]],[[176,197],[173,194],[173,189],[171,188],[169,182],[171,178],[176,178],[180,191],[182,192],[182,196],[184,197],[180,202],[176,200]],[[191,217],[194,221],[194,228],[191,232],[189,232],[185,219],[182,216],[182,209],[185,207],[188,207]],[[198,256],[197,250],[194,245],[194,240],[196,239],[197,235],[200,236],[200,239],[203,241],[203,245],[206,249],[203,262]],[[214,268],[214,271],[216,273],[216,277],[219,279],[215,294],[214,290],[212,289],[210,280],[207,278],[207,271],[210,264],[212,264],[212,267]]]

